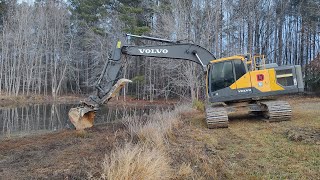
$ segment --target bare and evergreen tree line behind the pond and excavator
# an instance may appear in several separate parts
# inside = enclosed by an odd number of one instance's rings
[[[300,64],[306,87],[320,85],[318,0],[0,1],[2,95],[87,94],[124,33],[201,45],[217,58],[265,54],[268,63]],[[124,57],[125,89],[138,99],[201,98],[198,65]]]

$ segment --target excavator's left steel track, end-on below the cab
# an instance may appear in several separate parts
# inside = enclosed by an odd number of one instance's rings
[[[229,121],[226,108],[221,106],[207,107],[206,122],[209,129],[227,128]]]

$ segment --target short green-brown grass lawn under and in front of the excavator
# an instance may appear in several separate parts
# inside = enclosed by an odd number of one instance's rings
[[[291,121],[267,123],[244,114],[234,114],[228,129],[207,130],[204,114],[184,116],[190,122],[183,130],[186,139],[197,142],[190,147],[194,156],[219,162],[217,173],[206,174],[209,160],[195,178],[230,179],[318,179],[320,175],[320,101],[289,100],[293,106]],[[191,116],[191,118],[190,118]],[[201,150],[202,148],[202,150]],[[190,151],[191,151],[190,149]],[[208,150],[209,149],[209,150]],[[201,153],[201,151],[209,151]],[[181,153],[183,154],[183,153]],[[204,165],[204,164],[208,165]],[[192,165],[195,167],[197,163]]]

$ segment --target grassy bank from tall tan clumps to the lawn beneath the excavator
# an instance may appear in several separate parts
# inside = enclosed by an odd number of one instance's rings
[[[204,114],[189,107],[144,121],[128,118],[125,125],[132,139],[106,156],[102,177],[317,179],[320,101],[295,103],[291,121],[266,123],[234,114],[228,129],[206,129]]]

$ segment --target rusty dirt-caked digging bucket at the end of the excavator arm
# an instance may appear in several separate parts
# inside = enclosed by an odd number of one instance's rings
[[[83,130],[93,126],[95,111],[89,107],[71,108],[68,116],[76,130]]]

